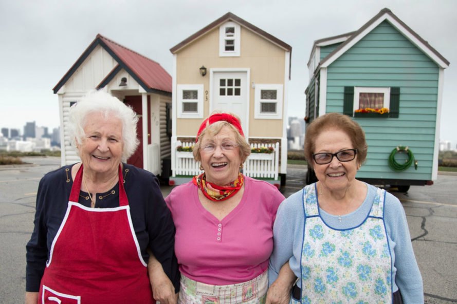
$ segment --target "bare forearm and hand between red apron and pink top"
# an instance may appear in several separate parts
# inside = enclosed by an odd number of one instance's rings
[[[148,273],[154,299],[160,304],[176,304],[178,294],[175,293],[173,283],[156,257],[151,252],[149,254]]]

